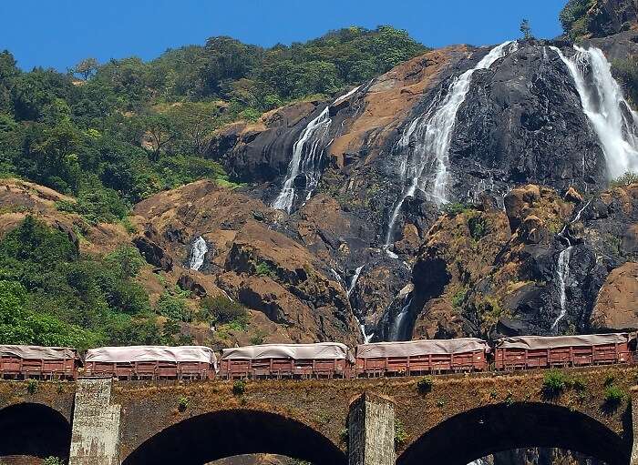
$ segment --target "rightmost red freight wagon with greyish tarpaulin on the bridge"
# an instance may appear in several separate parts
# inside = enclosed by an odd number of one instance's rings
[[[518,336],[496,341],[499,370],[581,367],[633,362],[628,334]]]

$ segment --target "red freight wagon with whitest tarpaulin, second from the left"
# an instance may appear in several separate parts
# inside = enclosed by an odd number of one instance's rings
[[[214,379],[217,358],[203,346],[129,346],[90,349],[86,376],[117,379]]]

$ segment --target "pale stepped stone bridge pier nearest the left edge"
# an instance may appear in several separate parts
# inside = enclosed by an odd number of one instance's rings
[[[78,379],[68,465],[119,465],[120,414],[111,379]]]

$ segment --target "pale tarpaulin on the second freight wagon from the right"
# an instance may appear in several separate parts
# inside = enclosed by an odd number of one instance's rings
[[[356,346],[357,359],[385,359],[386,357],[416,357],[418,355],[451,355],[467,352],[489,352],[483,339],[421,339],[405,342],[376,342]]]

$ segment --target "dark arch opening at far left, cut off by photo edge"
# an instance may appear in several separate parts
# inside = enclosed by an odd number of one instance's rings
[[[0,409],[0,458],[68,458],[71,425],[56,409],[24,402]]]

